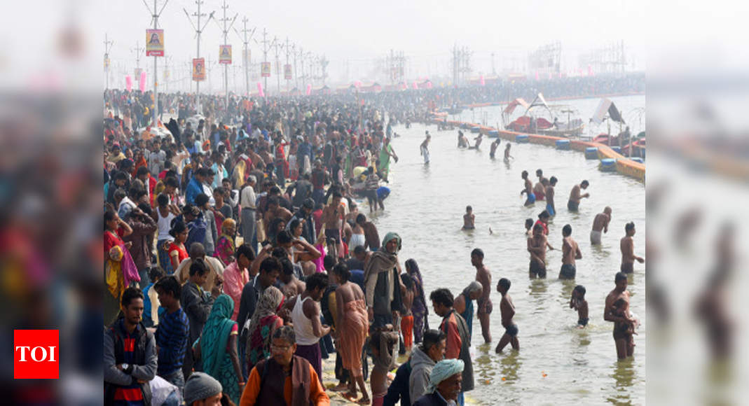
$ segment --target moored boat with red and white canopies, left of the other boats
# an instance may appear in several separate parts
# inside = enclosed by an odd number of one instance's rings
[[[524,99],[515,99],[507,105],[502,112],[503,120],[509,121],[509,116],[519,106],[525,108],[521,117],[505,125],[505,129],[515,132],[526,132],[530,134],[551,135],[554,137],[574,137],[583,133],[585,123],[579,118],[571,118],[572,114],[577,111],[568,108],[568,106],[558,106],[560,113],[567,114],[567,121],[560,121],[555,112],[544,99],[544,95],[539,93],[533,102],[526,102]]]

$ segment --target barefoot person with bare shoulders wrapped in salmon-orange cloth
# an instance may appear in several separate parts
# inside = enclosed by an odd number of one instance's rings
[[[348,370],[351,380],[348,392],[344,397],[352,402],[369,405],[369,395],[362,374],[362,348],[367,337],[367,309],[364,293],[356,283],[349,282],[351,271],[345,264],[333,268],[339,286],[336,289],[336,307],[339,315],[339,326],[336,329],[336,347],[342,358],[343,367]],[[362,398],[357,399],[357,384],[362,391]]]

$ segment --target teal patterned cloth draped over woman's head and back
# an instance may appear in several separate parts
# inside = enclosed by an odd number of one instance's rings
[[[228,295],[220,295],[213,302],[213,308],[203,327],[200,339],[203,357],[203,371],[213,378],[219,377],[219,369],[226,355],[226,343],[231,327],[237,324],[231,320],[234,301]]]

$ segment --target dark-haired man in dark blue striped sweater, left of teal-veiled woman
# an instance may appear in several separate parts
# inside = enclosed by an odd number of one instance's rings
[[[159,354],[157,373],[161,378],[180,388],[184,387],[185,378],[182,372],[189,322],[180,306],[182,286],[173,276],[164,277],[154,285],[161,306],[166,313],[159,319],[156,329],[156,345]]]

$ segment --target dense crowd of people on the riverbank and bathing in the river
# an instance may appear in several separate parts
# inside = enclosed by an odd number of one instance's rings
[[[389,165],[398,162],[392,129],[425,118],[429,96],[440,94],[232,98],[225,115],[220,97],[202,97],[198,109],[194,95],[170,94],[159,106],[160,115],[169,110],[169,134],[158,135],[141,129],[154,108],[148,93],[106,93],[106,403],[327,405],[336,390],[366,405],[463,405],[474,386],[474,314],[492,340],[483,251],[471,253],[476,280],[458,295],[427,294],[415,259],[401,269],[398,233],[380,239],[357,203],[385,209]],[[204,115],[188,120],[198,110]],[[540,200],[529,185],[529,200]],[[586,187],[576,186],[570,202],[579,204]],[[598,239],[610,209],[601,215]],[[470,207],[464,221],[473,227]],[[543,230],[533,225],[528,239],[532,276],[545,276]],[[571,268],[562,272],[574,277],[579,249],[564,233]],[[629,228],[628,236],[622,252],[641,261]],[[616,283],[607,320],[630,326],[618,275]],[[497,351],[519,348],[510,286],[497,283],[506,329]],[[570,306],[586,313],[578,288]],[[428,325],[430,307],[437,329]],[[617,351],[631,336],[618,330]],[[322,359],[333,353],[339,382],[327,388]],[[410,357],[391,381],[399,353]]]

